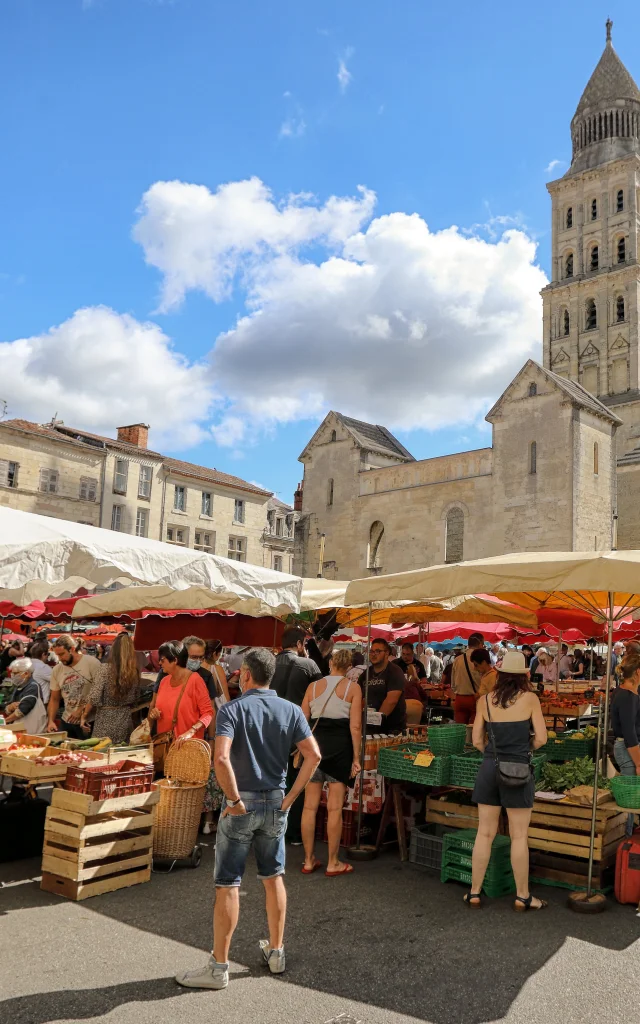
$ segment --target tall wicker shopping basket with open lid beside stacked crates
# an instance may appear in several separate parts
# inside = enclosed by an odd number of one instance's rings
[[[211,751],[202,739],[189,739],[169,751],[167,778],[160,779],[156,808],[154,856],[181,860],[198,842],[200,816],[211,769]]]

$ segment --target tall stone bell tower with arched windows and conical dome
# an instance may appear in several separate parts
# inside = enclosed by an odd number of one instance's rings
[[[622,455],[640,436],[640,90],[613,49],[610,20],[571,141],[571,166],[547,186],[552,274],[542,293],[544,365],[614,408]]]

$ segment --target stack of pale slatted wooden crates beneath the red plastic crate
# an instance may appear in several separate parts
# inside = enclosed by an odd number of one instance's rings
[[[41,888],[82,900],[151,879],[160,791],[95,801],[56,790],[47,810]]]

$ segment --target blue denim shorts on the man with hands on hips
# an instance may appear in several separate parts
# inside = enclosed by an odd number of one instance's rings
[[[287,811],[281,811],[282,790],[240,794],[246,814],[220,817],[216,834],[214,881],[218,888],[230,889],[242,883],[247,855],[253,846],[258,878],[274,879],[285,873],[285,831]]]

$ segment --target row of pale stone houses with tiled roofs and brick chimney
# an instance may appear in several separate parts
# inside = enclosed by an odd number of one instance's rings
[[[270,492],[147,440],[145,424],[112,438],[59,421],[2,422],[0,504],[289,570],[280,542],[278,552],[266,543]]]

